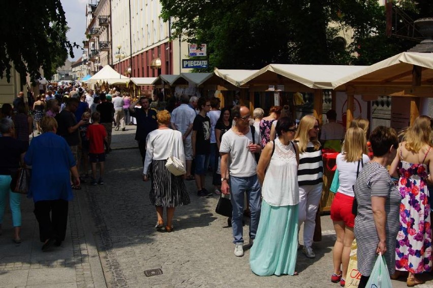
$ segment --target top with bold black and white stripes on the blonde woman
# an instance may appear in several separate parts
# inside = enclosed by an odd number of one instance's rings
[[[299,141],[293,141],[298,143]],[[312,142],[308,142],[304,153],[299,153],[298,185],[316,185],[323,182],[322,149],[314,149]]]

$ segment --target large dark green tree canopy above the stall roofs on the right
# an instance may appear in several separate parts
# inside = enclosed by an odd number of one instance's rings
[[[401,0],[412,11],[421,6]],[[408,5],[411,4],[411,5]],[[209,70],[270,63],[369,65],[416,43],[385,36],[377,0],[161,0],[173,37],[207,43]],[[425,3],[422,4],[425,6]],[[433,8],[433,5],[427,5]],[[427,9],[424,7],[423,9]],[[342,34],[348,34],[346,45]]]

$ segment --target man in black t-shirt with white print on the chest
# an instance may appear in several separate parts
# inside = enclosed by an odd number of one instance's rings
[[[207,191],[205,187],[210,158],[210,119],[206,116],[206,113],[210,110],[210,101],[202,97],[198,101],[198,107],[200,107],[200,113],[194,119],[193,135],[191,137],[195,164],[194,176],[196,178],[197,196],[207,197],[212,195],[212,192]]]

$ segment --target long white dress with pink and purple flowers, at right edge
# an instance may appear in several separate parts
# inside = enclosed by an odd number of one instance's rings
[[[400,204],[400,229],[395,247],[395,269],[415,274],[430,271],[431,222],[426,183],[427,166],[401,160],[398,169],[398,190],[403,199]]]

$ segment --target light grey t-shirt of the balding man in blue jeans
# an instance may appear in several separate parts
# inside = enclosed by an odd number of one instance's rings
[[[220,152],[229,153],[230,176],[250,177],[256,175],[256,158],[248,145],[253,142],[253,135],[249,129],[246,135],[237,135],[230,129],[224,133],[221,140]]]

